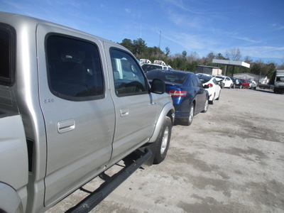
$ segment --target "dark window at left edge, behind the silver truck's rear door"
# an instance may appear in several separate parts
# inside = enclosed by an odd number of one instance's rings
[[[0,84],[13,83],[15,35],[13,28],[0,23]]]

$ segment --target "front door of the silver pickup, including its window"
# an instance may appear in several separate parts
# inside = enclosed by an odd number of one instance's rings
[[[106,44],[107,45],[107,44]],[[110,82],[116,111],[111,162],[129,154],[151,138],[157,120],[155,94],[148,92],[148,80],[130,53],[105,46],[111,64]]]

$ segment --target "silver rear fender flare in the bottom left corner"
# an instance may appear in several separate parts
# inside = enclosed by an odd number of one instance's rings
[[[0,182],[0,212],[23,212],[23,204],[16,190],[4,182]]]

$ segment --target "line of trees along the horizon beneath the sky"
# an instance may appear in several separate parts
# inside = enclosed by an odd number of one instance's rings
[[[174,70],[184,70],[195,72],[195,67],[197,65],[204,66],[217,66],[212,63],[213,59],[219,60],[241,60],[241,51],[239,48],[233,48],[231,50],[226,50],[225,55],[222,53],[208,53],[206,57],[200,58],[198,53],[192,52],[188,54],[185,50],[182,53],[176,53],[170,55],[170,48],[166,47],[164,51],[160,50],[158,47],[147,47],[145,40],[138,38],[137,40],[130,40],[124,38],[121,43],[125,48],[131,50],[131,52],[136,56],[136,58],[146,58],[153,62],[154,60],[163,60],[167,65],[173,67]],[[274,62],[265,63],[261,60],[253,61],[249,56],[246,56],[243,60],[251,65],[250,68],[246,67],[227,67],[226,75],[231,76],[233,73],[250,72],[255,75],[265,75],[271,78],[273,72],[277,69],[284,69],[284,60],[282,65],[278,66]],[[225,65],[219,65],[220,69],[226,70]]]

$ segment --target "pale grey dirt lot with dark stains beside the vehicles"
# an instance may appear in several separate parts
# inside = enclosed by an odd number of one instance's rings
[[[284,212],[283,168],[284,95],[222,89],[191,126],[173,127],[163,163],[137,170],[92,212]]]

